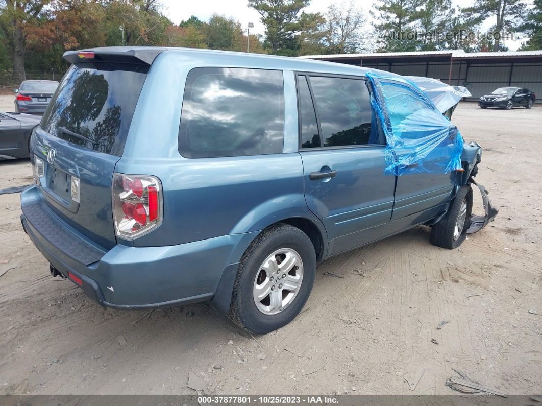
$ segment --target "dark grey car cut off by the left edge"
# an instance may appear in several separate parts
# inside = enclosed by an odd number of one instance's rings
[[[28,158],[30,134],[40,120],[35,115],[0,111],[0,160]]]

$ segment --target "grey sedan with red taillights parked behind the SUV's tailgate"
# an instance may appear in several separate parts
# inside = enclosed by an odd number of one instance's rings
[[[55,80],[25,80],[14,92],[17,113],[43,114],[59,82]]]

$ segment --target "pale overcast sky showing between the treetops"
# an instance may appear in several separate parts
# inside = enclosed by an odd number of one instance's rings
[[[216,13],[234,17],[237,21],[241,22],[243,29],[247,28],[249,22],[254,23],[254,28],[250,29],[253,33],[263,34],[265,31],[265,27],[260,22],[260,14],[256,10],[247,7],[247,0],[192,0],[190,2],[161,0],[161,2],[164,5],[166,16],[176,24],[182,20],[187,20],[191,15],[195,15],[199,20],[207,21],[212,14]],[[357,3],[367,11],[367,16],[369,16],[369,9],[373,2],[357,0]],[[461,7],[467,7],[472,3],[472,0],[452,0],[452,4],[460,5]],[[311,5],[306,8],[306,11],[320,11],[323,14],[328,4],[330,4],[330,0],[312,0]],[[492,22],[487,22],[482,28],[488,29],[491,25]],[[506,45],[511,50],[516,50],[520,46],[520,42],[506,41]]]

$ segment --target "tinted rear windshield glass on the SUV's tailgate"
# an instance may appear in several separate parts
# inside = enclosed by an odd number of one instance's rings
[[[146,65],[72,65],[49,102],[41,128],[95,151],[121,156]]]

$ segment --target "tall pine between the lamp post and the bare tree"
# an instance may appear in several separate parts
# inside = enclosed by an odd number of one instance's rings
[[[264,48],[272,54],[298,54],[301,42],[312,37],[322,22],[319,13],[302,11],[309,3],[310,0],[248,0],[248,7],[260,13],[260,21],[266,26]]]

